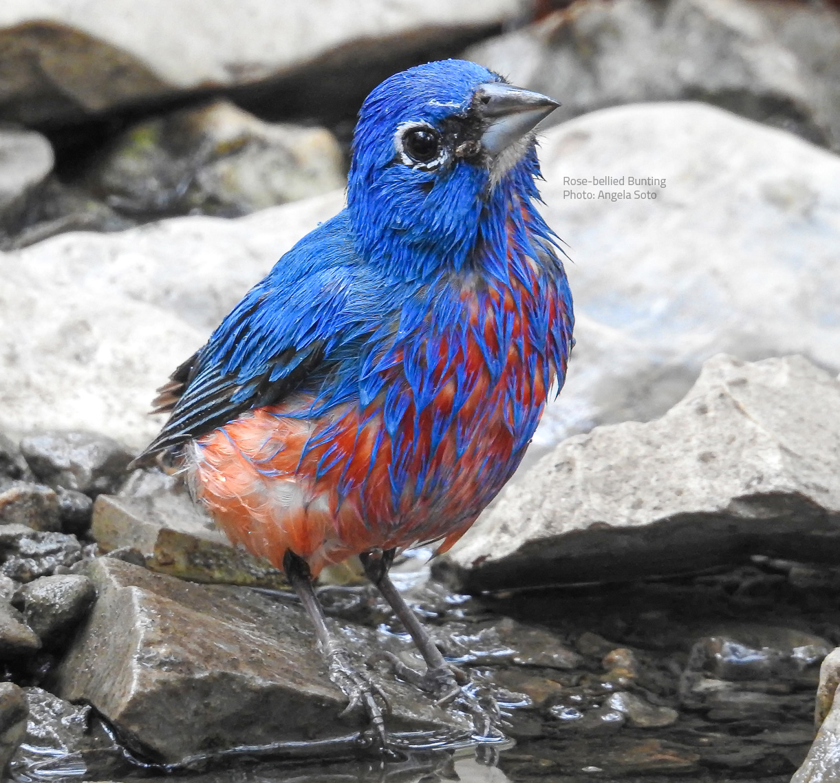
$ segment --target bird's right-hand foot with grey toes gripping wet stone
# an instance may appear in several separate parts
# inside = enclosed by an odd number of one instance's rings
[[[438,707],[451,705],[470,715],[475,733],[482,738],[498,738],[501,711],[491,691],[475,686],[463,669],[453,664],[420,672],[407,666],[395,654],[382,652],[375,656],[389,665],[393,674],[430,694]]]

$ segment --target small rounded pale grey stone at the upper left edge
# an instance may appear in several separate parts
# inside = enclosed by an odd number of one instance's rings
[[[0,127],[0,237],[52,171],[50,142],[32,130]]]

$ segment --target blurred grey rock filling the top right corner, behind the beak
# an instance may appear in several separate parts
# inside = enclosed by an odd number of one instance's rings
[[[578,2],[465,57],[563,102],[554,122],[699,99],[840,149],[840,13],[773,0]]]

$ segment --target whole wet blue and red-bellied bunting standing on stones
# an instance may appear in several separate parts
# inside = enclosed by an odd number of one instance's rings
[[[331,637],[312,577],[358,554],[428,670],[403,679],[496,731],[391,583],[449,549],[516,470],[573,344],[562,251],[535,208],[534,126],[557,107],[443,60],[360,110],[347,207],[301,239],[160,390],[139,463],[186,473],[234,544],[286,575],[329,674],[383,747],[386,702]]]

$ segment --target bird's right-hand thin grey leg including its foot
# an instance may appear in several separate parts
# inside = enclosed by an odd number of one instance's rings
[[[380,657],[388,660],[396,675],[403,680],[432,693],[438,704],[453,702],[459,707],[464,707],[466,712],[470,712],[474,718],[480,720],[481,732],[484,736],[488,736],[493,725],[501,720],[495,700],[485,695],[479,702],[478,698],[467,690],[465,686],[470,681],[469,676],[464,670],[447,662],[438,649],[438,645],[434,644],[426,628],[423,628],[423,623],[417,618],[412,607],[409,607],[400,595],[400,591],[396,589],[388,575],[388,569],[394,560],[394,549],[388,549],[385,552],[365,552],[360,554],[360,560],[368,579],[374,583],[403,627],[411,634],[428,668],[424,674],[420,674],[402,663],[396,655],[381,654]]]

